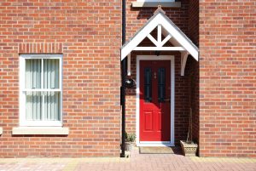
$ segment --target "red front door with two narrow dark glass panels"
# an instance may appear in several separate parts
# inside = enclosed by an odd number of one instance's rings
[[[171,140],[171,60],[140,61],[140,141]]]

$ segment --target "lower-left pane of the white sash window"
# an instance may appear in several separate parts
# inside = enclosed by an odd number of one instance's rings
[[[38,121],[42,119],[41,92],[26,92],[26,120]]]

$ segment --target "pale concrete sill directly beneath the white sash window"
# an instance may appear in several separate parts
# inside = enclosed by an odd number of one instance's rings
[[[17,127],[13,128],[13,134],[60,134],[67,135],[69,128],[63,127]]]

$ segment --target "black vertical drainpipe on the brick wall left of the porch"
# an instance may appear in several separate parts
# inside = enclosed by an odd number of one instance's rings
[[[125,0],[122,0],[122,45],[125,44]],[[121,157],[125,157],[125,79],[126,79],[126,58],[121,61],[122,71],[122,88],[121,88],[121,104],[122,104],[122,152]]]

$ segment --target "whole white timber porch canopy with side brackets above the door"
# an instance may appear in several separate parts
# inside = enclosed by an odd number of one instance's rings
[[[156,39],[150,34],[157,27]],[[162,36],[165,38],[162,40]],[[150,47],[138,47],[143,40],[148,39],[154,44]],[[167,42],[173,46],[164,46]],[[125,43],[121,48],[121,60],[128,56],[128,75],[131,74],[131,51],[179,51],[181,52],[181,75],[184,75],[184,70],[188,55],[190,54],[198,61],[198,48],[181,31],[167,16],[165,11],[160,7],[154,12],[154,15],[147,23],[131,37],[131,40]]]

